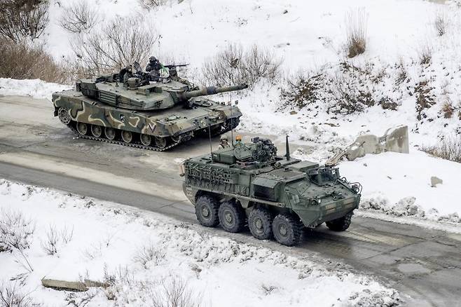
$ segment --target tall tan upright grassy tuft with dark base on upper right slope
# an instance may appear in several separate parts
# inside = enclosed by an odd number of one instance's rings
[[[364,11],[350,12],[346,18],[348,57],[361,55],[366,50],[368,38],[366,36],[367,18]]]

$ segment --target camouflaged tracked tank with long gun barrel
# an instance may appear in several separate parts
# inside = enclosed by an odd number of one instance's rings
[[[54,115],[78,137],[156,151],[239,124],[238,107],[205,96],[242,90],[245,84],[197,89],[177,75],[155,81],[146,76],[81,79],[74,89],[53,93]]]

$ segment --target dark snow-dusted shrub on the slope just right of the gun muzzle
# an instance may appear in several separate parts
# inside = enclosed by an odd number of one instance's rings
[[[298,109],[317,102],[319,100],[319,90],[322,89],[324,76],[322,71],[318,73],[309,72],[308,74],[299,73],[290,77],[287,81],[287,88],[282,89],[280,97],[285,102],[282,107],[287,105]]]

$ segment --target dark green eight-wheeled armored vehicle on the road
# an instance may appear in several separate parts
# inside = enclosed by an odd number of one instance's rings
[[[248,224],[255,238],[283,245],[302,240],[303,228],[326,222],[345,231],[362,186],[340,177],[338,168],[277,156],[269,139],[189,158],[181,165],[184,193],[203,226],[239,232]]]

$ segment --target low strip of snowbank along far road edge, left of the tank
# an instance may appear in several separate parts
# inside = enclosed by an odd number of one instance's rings
[[[48,83],[39,79],[16,80],[0,78],[0,95],[30,96],[37,99],[51,100],[51,94],[68,90],[71,86]]]

